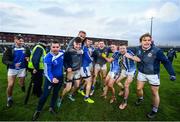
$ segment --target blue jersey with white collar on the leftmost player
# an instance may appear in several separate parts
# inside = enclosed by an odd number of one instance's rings
[[[24,47],[13,46],[13,64],[9,65],[10,69],[23,69],[26,68],[26,50]],[[15,64],[19,63],[19,67],[15,67]]]

